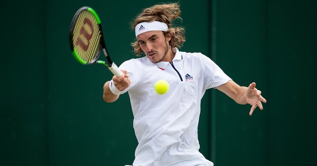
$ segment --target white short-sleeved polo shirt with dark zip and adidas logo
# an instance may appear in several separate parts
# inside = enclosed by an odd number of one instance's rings
[[[202,157],[197,134],[201,99],[206,89],[231,79],[202,53],[179,50],[172,63],[142,57],[119,68],[132,82],[123,93],[130,96],[139,142],[133,166],[169,166]],[[163,95],[154,89],[159,80],[169,83]]]

